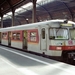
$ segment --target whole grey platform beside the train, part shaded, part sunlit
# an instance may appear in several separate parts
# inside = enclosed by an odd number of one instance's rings
[[[0,75],[75,75],[75,66],[0,46]]]

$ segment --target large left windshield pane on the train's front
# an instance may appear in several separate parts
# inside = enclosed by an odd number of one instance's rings
[[[68,39],[68,29],[66,28],[50,28],[49,39]]]

